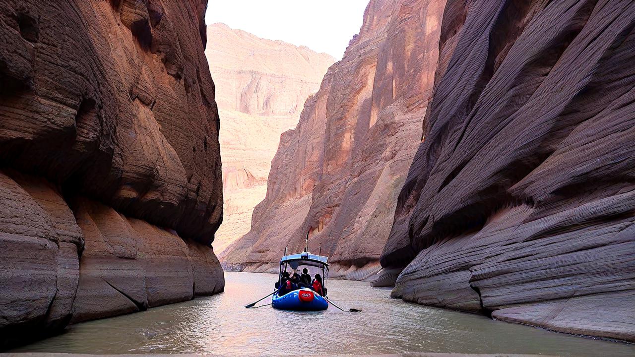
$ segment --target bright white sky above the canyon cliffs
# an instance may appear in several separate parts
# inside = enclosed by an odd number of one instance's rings
[[[342,58],[358,34],[368,0],[209,0],[205,22],[223,22]]]

